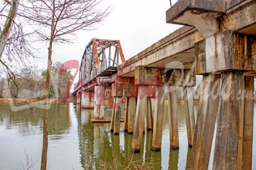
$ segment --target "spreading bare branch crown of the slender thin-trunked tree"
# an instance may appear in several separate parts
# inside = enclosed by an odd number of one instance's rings
[[[50,41],[50,32],[47,29],[53,24],[53,41],[59,41],[59,37],[69,35],[69,38],[61,38],[61,41],[70,41],[70,35],[80,30],[90,31],[96,28],[103,19],[110,14],[110,8],[99,10],[101,1],[96,0],[65,0],[65,1],[30,1],[32,5],[22,5],[20,16],[30,19],[31,24],[37,22],[42,25],[37,30],[41,41]],[[50,18],[54,18],[52,21]]]

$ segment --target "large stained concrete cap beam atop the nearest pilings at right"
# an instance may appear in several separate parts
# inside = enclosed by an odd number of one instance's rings
[[[225,31],[195,44],[196,74],[256,71],[255,36]]]

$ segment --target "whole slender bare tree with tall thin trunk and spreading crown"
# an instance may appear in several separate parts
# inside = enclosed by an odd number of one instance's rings
[[[21,4],[19,15],[36,27],[37,40],[48,42],[46,76],[46,108],[43,121],[43,150],[41,170],[46,169],[48,148],[48,88],[50,84],[53,42],[71,42],[75,32],[95,29],[109,15],[109,8],[99,11],[97,0],[28,0]]]

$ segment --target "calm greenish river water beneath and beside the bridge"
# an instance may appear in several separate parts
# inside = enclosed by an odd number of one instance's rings
[[[195,113],[198,105],[195,105]],[[141,152],[132,154],[132,135],[124,132],[121,123],[119,135],[109,131],[110,124],[91,124],[92,109],[80,109],[73,103],[51,104],[48,114],[47,169],[121,169],[128,164],[145,164],[153,169],[186,169],[192,149],[187,146],[184,105],[178,104],[180,149],[170,149],[167,105],[164,108],[164,125],[161,152],[151,151],[152,132],[146,131]],[[256,105],[254,106],[254,115]],[[105,112],[110,118],[111,111]],[[256,129],[252,169],[256,170]],[[9,104],[0,104],[0,169],[40,169],[43,138],[43,110],[23,109],[12,112]],[[214,146],[214,145],[213,145]],[[209,169],[212,167],[210,156]],[[135,168],[134,168],[135,169]]]

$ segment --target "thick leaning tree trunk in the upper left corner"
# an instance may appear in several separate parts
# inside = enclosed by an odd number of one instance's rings
[[[12,1],[7,21],[5,22],[4,29],[3,29],[3,31],[1,32],[1,35],[0,35],[0,59],[1,59],[2,54],[4,52],[5,44],[8,41],[9,34],[11,32],[11,29],[12,29],[12,25],[14,24],[15,16],[17,15],[19,2],[20,2],[20,0]]]

